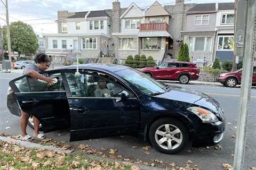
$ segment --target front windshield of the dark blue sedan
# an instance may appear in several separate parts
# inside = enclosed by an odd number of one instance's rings
[[[170,89],[170,86],[158,82],[148,75],[133,69],[125,69],[116,72],[125,80],[132,83],[141,92],[147,95],[159,95]]]

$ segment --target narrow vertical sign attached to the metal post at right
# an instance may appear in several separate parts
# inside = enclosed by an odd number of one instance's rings
[[[234,55],[244,55],[244,36],[245,36],[245,24],[246,24],[246,12],[247,12],[246,0],[239,0],[236,7],[236,25],[235,25],[235,49]]]

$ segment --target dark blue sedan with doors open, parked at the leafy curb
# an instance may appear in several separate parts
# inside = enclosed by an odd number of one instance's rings
[[[219,143],[225,116],[219,103],[200,92],[162,84],[120,65],[79,65],[42,73],[51,87],[23,75],[10,82],[7,107],[36,116],[44,132],[70,129],[70,141],[134,135],[174,154]],[[18,103],[17,103],[18,101]]]

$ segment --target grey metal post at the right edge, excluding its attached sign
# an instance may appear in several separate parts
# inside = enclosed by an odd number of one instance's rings
[[[239,0],[245,1],[245,0]],[[236,146],[234,158],[234,170],[243,169],[245,145],[246,145],[246,128],[248,109],[250,104],[251,87],[252,87],[252,69],[253,55],[255,55],[255,17],[256,17],[256,1],[247,1],[247,15],[244,38],[244,59],[241,95],[239,99],[239,116],[236,130]],[[238,21],[237,22],[242,22]]]

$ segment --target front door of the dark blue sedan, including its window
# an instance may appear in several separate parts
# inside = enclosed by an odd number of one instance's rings
[[[70,141],[111,137],[138,131],[137,98],[106,75],[67,72],[70,107]],[[114,80],[114,79],[113,79]],[[121,94],[127,99],[122,101]]]

